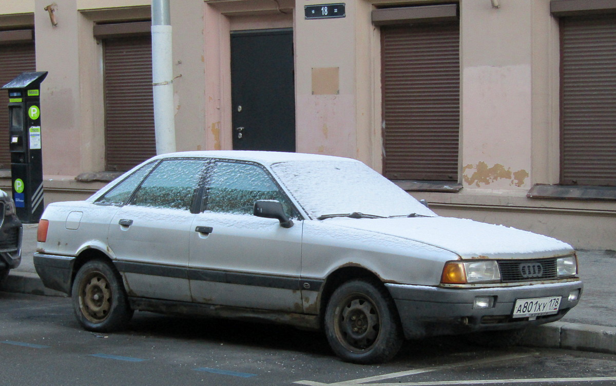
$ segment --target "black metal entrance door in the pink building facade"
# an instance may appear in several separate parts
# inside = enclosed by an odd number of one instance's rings
[[[295,151],[293,30],[231,33],[233,149]]]

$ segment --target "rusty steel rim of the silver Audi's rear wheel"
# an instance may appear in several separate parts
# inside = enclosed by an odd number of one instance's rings
[[[79,291],[79,308],[87,320],[100,323],[111,310],[111,287],[100,272],[92,272],[82,282]]]

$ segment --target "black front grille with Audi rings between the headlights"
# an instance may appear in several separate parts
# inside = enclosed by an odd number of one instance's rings
[[[498,260],[501,281],[556,279],[556,258],[540,260]]]

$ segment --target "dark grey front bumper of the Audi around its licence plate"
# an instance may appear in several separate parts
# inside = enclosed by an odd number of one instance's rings
[[[398,308],[402,328],[407,339],[427,336],[464,334],[475,331],[516,329],[559,320],[580,297],[569,302],[572,291],[580,291],[580,280],[549,284],[532,284],[511,287],[441,288],[386,284]],[[492,296],[492,308],[473,309],[477,296]],[[512,318],[517,299],[561,296],[559,311],[554,315],[537,316],[536,319]]]

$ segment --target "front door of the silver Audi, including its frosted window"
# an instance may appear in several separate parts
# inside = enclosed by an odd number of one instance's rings
[[[200,214],[190,235],[193,302],[302,312],[302,222],[283,228],[253,215],[254,202],[294,207],[270,175],[254,164],[215,162],[205,184]]]

